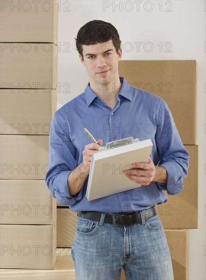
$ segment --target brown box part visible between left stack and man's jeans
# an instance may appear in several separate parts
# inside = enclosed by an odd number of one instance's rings
[[[57,233],[56,246],[65,248],[71,247],[76,232],[77,213],[69,209],[69,207],[57,208]]]

